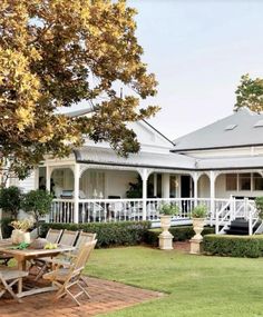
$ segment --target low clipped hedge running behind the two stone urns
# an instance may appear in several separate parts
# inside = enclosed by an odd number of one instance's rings
[[[162,232],[160,228],[149,229],[145,236],[145,242],[157,247],[158,246],[158,236]],[[171,227],[169,232],[174,236],[174,241],[186,241],[189,240],[194,235],[193,226],[176,226]],[[214,234],[215,229],[213,227],[205,227],[202,235]]]

